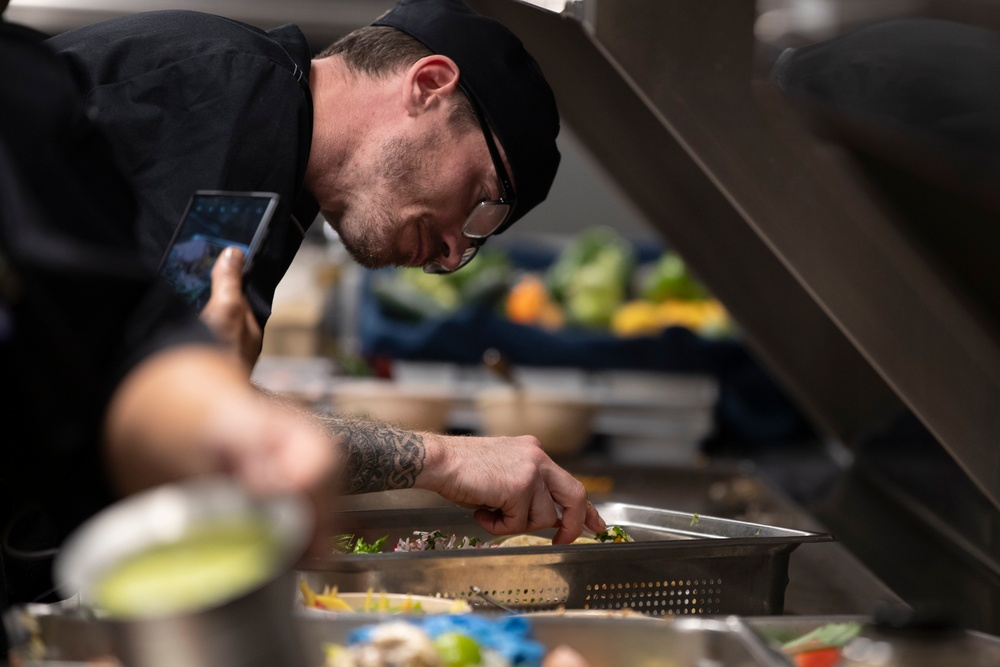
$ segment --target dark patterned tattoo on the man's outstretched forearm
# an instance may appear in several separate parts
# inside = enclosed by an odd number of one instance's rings
[[[343,443],[344,493],[408,489],[424,469],[427,448],[419,433],[357,418],[323,421]]]

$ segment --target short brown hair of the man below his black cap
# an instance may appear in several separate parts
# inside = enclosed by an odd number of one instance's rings
[[[419,40],[386,26],[365,26],[344,35],[317,54],[317,58],[340,56],[347,67],[373,78],[389,76],[434,52]],[[452,122],[459,127],[478,124],[472,103],[463,91],[455,98]]]

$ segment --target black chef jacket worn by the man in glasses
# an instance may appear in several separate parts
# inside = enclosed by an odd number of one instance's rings
[[[312,139],[311,53],[293,25],[274,30],[158,11],[58,35],[139,197],[139,240],[158,265],[195,190],[281,196],[246,280],[261,326],[319,207],[302,189]]]

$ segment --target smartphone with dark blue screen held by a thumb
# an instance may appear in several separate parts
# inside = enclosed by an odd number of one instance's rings
[[[212,294],[212,266],[235,246],[250,268],[278,205],[271,192],[198,191],[188,203],[160,275],[199,312]]]

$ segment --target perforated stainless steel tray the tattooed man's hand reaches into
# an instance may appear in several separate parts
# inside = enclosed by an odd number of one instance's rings
[[[552,531],[500,544],[457,507],[341,512],[330,554],[298,574],[313,590],[429,595],[475,609],[768,615],[783,611],[790,554],[833,539],[626,503],[598,510],[612,526],[607,541],[572,545],[552,545]]]

